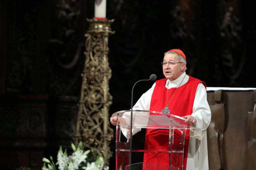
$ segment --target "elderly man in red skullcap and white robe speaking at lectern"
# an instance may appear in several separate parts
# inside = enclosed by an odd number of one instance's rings
[[[186,56],[180,49],[164,53],[162,66],[165,78],[157,80],[133,109],[170,113],[185,118],[185,122],[192,126],[186,135],[183,169],[208,169],[206,129],[211,121],[211,111],[206,84],[186,74]],[[110,118],[110,122],[116,125],[116,118]],[[168,137],[169,132],[166,130],[147,129],[145,149],[168,147],[167,143],[159,142],[158,135],[161,133],[161,138]],[[144,162],[168,164],[168,153],[145,153]]]

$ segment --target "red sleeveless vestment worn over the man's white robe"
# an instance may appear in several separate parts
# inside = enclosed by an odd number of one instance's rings
[[[150,110],[161,112],[166,107],[166,95],[167,88],[165,87],[167,78],[156,81],[151,102]],[[196,89],[199,83],[203,83],[205,88],[206,84],[199,79],[189,76],[189,80],[186,84],[179,87],[177,92],[172,98],[169,104],[170,114],[177,116],[186,116],[192,114]],[[170,101],[176,88],[171,88],[168,91],[168,102]],[[178,137],[176,137],[178,136]],[[178,130],[174,131],[174,143],[179,143]],[[188,142],[189,142],[189,130],[186,131],[185,144],[184,144],[184,156],[183,156],[183,169],[186,169],[187,156],[188,156]],[[145,150],[168,150],[169,149],[169,129],[147,129],[145,138]],[[172,149],[174,149],[172,147]],[[176,148],[177,149],[177,148]],[[182,157],[181,157],[182,158]],[[171,165],[178,166],[177,155],[171,154]],[[168,153],[157,153],[157,152],[145,152],[143,162],[156,162],[169,164]],[[159,168],[159,167],[158,167]],[[146,167],[143,166],[145,170]],[[157,167],[152,167],[157,169]]]

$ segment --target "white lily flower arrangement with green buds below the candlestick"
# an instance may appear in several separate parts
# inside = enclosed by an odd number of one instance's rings
[[[62,151],[62,147],[60,146],[58,155],[57,155],[57,163],[55,164],[52,156],[50,156],[50,160],[47,158],[43,158],[44,166],[42,170],[76,170],[76,169],[85,169],[85,170],[108,170],[109,167],[104,166],[103,157],[93,156],[95,161],[87,161],[86,159],[92,159],[88,157],[88,154],[91,152],[87,150],[84,152],[84,147],[82,142],[77,145],[77,148],[74,144],[71,144],[73,149],[72,155],[67,154],[67,149]],[[56,167],[58,165],[58,168]]]

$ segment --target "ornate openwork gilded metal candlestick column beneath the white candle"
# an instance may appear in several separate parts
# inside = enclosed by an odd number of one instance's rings
[[[112,104],[108,82],[111,69],[108,64],[108,37],[111,31],[108,19],[87,19],[90,27],[85,34],[86,52],[82,73],[81,97],[79,101],[75,144],[82,141],[86,148],[101,153],[105,166],[112,156],[110,141],[113,130],[109,127],[108,110]]]

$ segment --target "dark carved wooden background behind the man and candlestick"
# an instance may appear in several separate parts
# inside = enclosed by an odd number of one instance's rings
[[[164,77],[160,63],[172,48],[184,51],[187,74],[207,86],[255,87],[255,7],[252,0],[108,0],[116,32],[109,37],[109,114],[129,109],[136,81]],[[43,156],[70,146],[93,14],[93,0],[0,2],[1,167],[40,169]],[[137,85],[134,101],[152,84]]]

